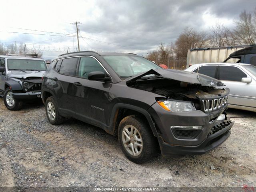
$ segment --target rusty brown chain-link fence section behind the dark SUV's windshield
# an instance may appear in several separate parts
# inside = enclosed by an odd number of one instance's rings
[[[186,57],[170,57],[170,58],[157,58],[155,61],[156,64],[164,64],[169,69],[178,69],[184,70],[187,66],[187,58]]]

